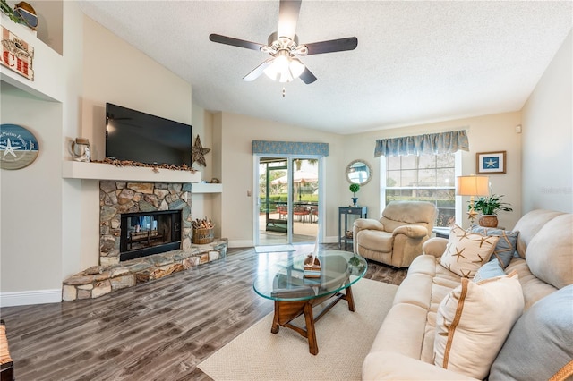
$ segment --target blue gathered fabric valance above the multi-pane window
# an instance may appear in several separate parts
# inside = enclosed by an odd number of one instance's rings
[[[376,140],[374,157],[446,154],[469,151],[466,130]]]

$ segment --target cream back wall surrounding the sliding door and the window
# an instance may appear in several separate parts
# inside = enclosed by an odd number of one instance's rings
[[[217,119],[217,118],[216,118]],[[420,135],[441,131],[468,131],[470,151],[462,154],[462,174],[475,174],[477,152],[507,151],[507,173],[491,174],[490,182],[496,194],[504,195],[513,212],[500,212],[500,226],[511,228],[521,216],[521,135],[515,128],[521,124],[519,112],[483,115],[455,121],[414,125],[393,130],[372,131],[361,134],[338,135],[308,130],[281,123],[264,121],[244,115],[220,114],[223,168],[222,181],[226,185],[222,195],[222,236],[230,245],[252,244],[252,202],[246,190],[252,190],[252,140],[313,141],[329,143],[326,160],[325,207],[326,241],[336,241],[338,207],[351,203],[352,193],[346,182],[346,165],[363,159],[372,165],[372,181],[357,193],[359,204],[368,207],[370,217],[380,217],[380,158],[374,158],[377,139]],[[217,124],[217,123],[216,123]],[[464,198],[466,205],[468,198]],[[467,219],[458,221],[467,226]]]

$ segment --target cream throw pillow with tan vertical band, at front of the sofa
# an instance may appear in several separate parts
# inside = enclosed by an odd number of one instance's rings
[[[461,282],[436,314],[434,364],[483,379],[523,311],[523,292],[516,271],[480,284]]]

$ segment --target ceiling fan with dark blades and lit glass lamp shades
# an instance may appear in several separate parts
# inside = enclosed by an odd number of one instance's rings
[[[264,72],[271,80],[289,82],[300,78],[307,85],[314,82],[316,77],[297,58],[299,55],[321,55],[323,53],[353,50],[358,45],[355,37],[330,39],[298,45],[295,35],[296,21],[301,9],[302,0],[280,0],[278,7],[278,30],[269,36],[268,45],[244,39],[211,34],[209,39],[219,44],[244,47],[269,53],[271,57],[244,76],[243,80],[256,80]]]

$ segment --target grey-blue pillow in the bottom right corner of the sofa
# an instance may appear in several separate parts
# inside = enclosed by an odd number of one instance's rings
[[[573,284],[524,312],[493,362],[491,380],[549,380],[573,376]]]

